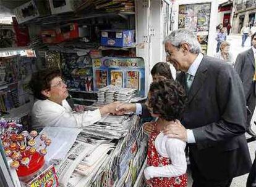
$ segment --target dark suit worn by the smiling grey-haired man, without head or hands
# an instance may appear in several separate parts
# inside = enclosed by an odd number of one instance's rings
[[[177,81],[184,86],[184,72]],[[208,180],[228,180],[249,172],[245,117],[244,91],[236,71],[228,63],[204,56],[181,121],[195,136],[196,143],[189,144],[191,167]]]

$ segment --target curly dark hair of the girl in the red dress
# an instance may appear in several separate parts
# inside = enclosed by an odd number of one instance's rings
[[[181,120],[186,105],[186,94],[179,82],[171,79],[150,85],[148,106],[153,114],[167,121]]]

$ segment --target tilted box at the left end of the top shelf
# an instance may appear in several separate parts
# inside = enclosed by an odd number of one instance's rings
[[[18,23],[27,22],[42,15],[51,14],[48,1],[31,0],[14,9]]]

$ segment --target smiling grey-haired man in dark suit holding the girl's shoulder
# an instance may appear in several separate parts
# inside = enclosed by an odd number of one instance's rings
[[[202,55],[189,30],[173,31],[164,44],[188,97],[182,121],[171,122],[164,133],[188,143],[193,187],[230,186],[252,165],[242,82],[228,63]]]

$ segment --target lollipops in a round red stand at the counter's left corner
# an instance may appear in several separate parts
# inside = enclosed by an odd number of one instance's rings
[[[47,147],[51,145],[51,139],[46,134],[40,135],[41,143],[37,145],[35,138],[38,132],[32,130],[20,130],[20,124],[7,122],[0,118],[0,137],[4,153],[13,160],[11,167],[17,169],[19,177],[25,177],[40,170],[45,164],[44,156],[47,154]],[[45,145],[45,148],[40,146]]]

